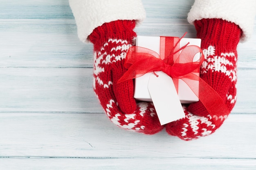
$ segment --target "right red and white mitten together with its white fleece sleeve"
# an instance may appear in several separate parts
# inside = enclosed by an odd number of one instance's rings
[[[250,37],[255,13],[255,0],[195,0],[188,15],[202,39],[205,58],[200,77],[220,95],[230,111],[236,103],[236,47],[239,40]],[[210,116],[200,101],[184,109],[184,119],[166,125],[170,135],[184,140],[215,132],[228,116]],[[215,120],[221,124],[217,126]]]

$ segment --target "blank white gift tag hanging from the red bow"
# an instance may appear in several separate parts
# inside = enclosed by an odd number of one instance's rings
[[[148,91],[155,106],[160,124],[168,124],[185,117],[184,110],[177,95],[173,79],[164,72],[151,74],[148,81]]]

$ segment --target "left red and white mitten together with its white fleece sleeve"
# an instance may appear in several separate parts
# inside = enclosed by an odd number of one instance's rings
[[[129,80],[117,84],[126,72],[124,59],[145,18],[140,0],[70,0],[78,35],[94,44],[94,91],[108,118],[121,128],[154,134],[163,129],[153,104],[136,103]]]

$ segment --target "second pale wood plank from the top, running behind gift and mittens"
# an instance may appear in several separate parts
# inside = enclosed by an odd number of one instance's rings
[[[1,23],[2,22],[2,23]],[[76,35],[74,20],[0,20],[0,67],[92,67],[93,46]],[[256,68],[254,35],[238,45],[238,68]],[[189,24],[142,24],[138,35],[195,38]]]

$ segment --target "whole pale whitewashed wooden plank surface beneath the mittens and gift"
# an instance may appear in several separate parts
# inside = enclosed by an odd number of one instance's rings
[[[139,35],[195,37],[193,0],[143,0]],[[122,130],[92,90],[92,45],[67,0],[0,0],[1,170],[255,170],[256,22],[238,45],[238,100],[213,135],[181,141]]]

